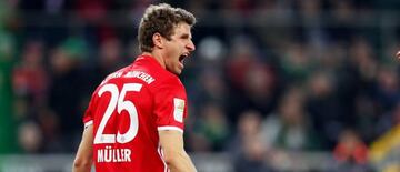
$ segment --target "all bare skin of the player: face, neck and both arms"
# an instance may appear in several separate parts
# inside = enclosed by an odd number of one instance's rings
[[[196,47],[191,40],[191,27],[187,23],[179,23],[173,29],[171,40],[154,33],[152,37],[154,48],[152,52],[144,52],[153,57],[162,68],[179,75],[183,68],[183,60],[194,51]],[[182,55],[187,54],[182,60]],[[183,133],[176,130],[159,131],[160,145],[163,150],[163,159],[171,172],[196,172],[196,168],[183,148]],[[93,127],[84,129],[79,145],[73,172],[89,172],[92,165]]]

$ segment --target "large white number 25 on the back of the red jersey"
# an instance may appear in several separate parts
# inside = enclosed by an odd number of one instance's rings
[[[139,83],[127,83],[127,84],[123,84],[121,94],[120,94],[117,85],[109,83],[109,84],[103,85],[99,90],[99,92],[98,92],[99,97],[101,97],[104,92],[110,92],[111,99],[107,107],[104,115],[101,119],[99,129],[96,132],[94,141],[93,141],[94,144],[116,143],[116,140],[118,143],[128,143],[134,139],[134,136],[138,133],[138,129],[139,129],[138,111],[137,111],[134,104],[129,100],[124,100],[124,98],[127,95],[127,92],[129,92],[129,91],[139,92],[141,88],[142,88],[142,84],[139,84]],[[120,133],[120,131],[118,131],[117,139],[116,139],[116,134],[103,134],[106,124],[107,124],[108,120],[110,119],[111,114],[114,112],[116,108],[118,110],[118,114],[121,114],[121,112],[123,110],[126,110],[129,113],[129,120],[130,120],[128,131],[126,133]]]

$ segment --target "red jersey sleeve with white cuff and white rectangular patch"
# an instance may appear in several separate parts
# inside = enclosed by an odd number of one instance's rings
[[[186,90],[179,80],[160,84],[154,93],[154,114],[158,130],[183,132],[188,102]]]

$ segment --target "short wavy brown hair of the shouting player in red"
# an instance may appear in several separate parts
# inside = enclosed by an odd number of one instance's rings
[[[152,51],[154,47],[152,36],[154,33],[160,33],[162,37],[170,40],[173,34],[173,28],[180,22],[193,26],[196,23],[196,18],[187,10],[172,8],[167,3],[149,6],[141,18],[139,26],[138,40],[140,50],[142,52]]]

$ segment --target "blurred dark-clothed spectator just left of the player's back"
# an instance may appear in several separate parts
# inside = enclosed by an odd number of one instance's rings
[[[66,150],[72,151],[81,132],[83,99],[90,95],[88,73],[81,64],[86,58],[84,41],[70,38],[51,54],[51,84],[49,108],[59,119],[60,134],[63,135]]]

